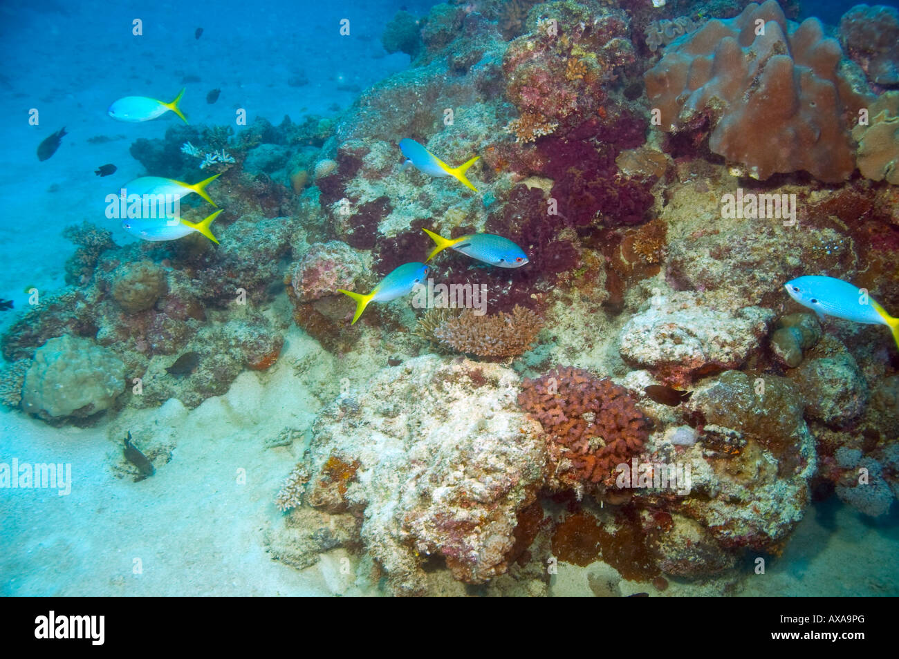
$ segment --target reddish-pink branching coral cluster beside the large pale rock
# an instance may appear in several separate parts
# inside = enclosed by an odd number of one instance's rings
[[[628,390],[580,368],[556,366],[525,380],[518,402],[547,434],[549,484],[558,490],[612,485],[615,467],[640,453],[648,436]]]

